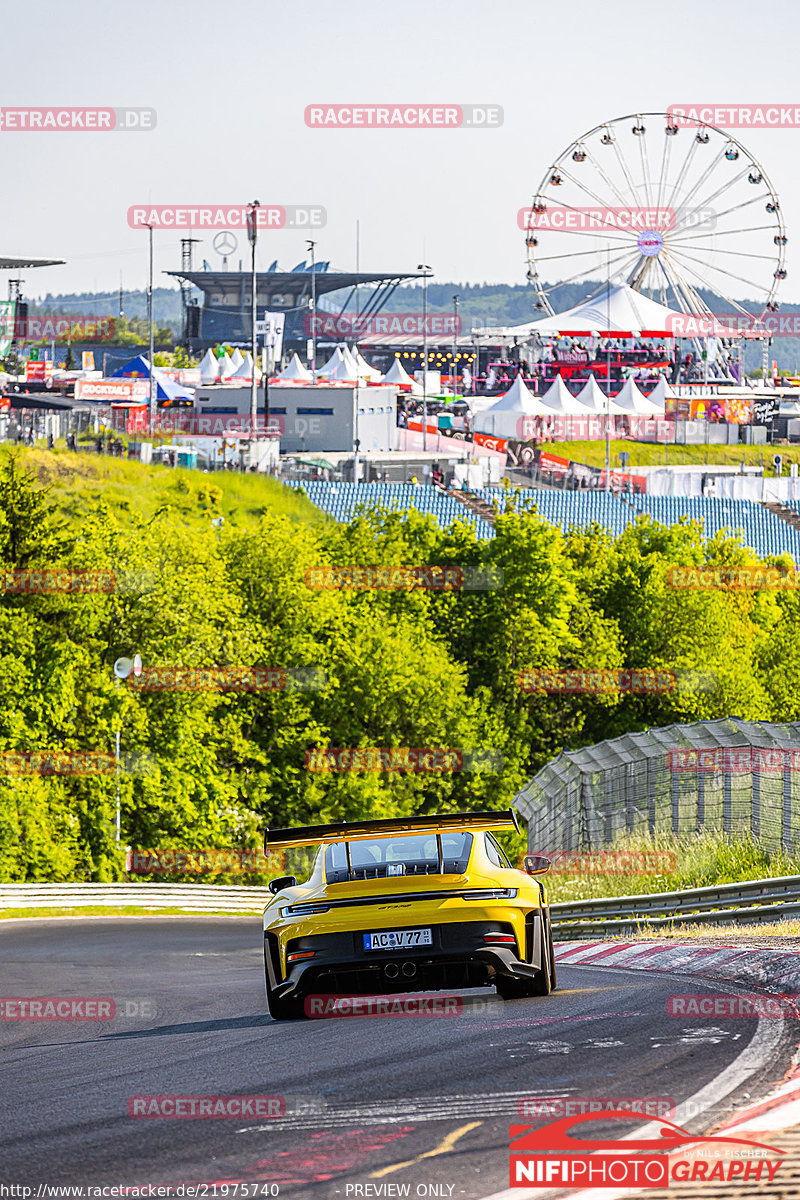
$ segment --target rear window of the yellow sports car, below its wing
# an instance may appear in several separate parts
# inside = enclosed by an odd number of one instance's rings
[[[441,834],[444,875],[462,875],[467,870],[473,848],[471,833]],[[325,878],[329,883],[350,880],[383,880],[402,875],[438,875],[439,848],[435,834],[414,834],[408,838],[375,838],[350,842],[348,876],[347,852],[343,841],[325,851]]]

